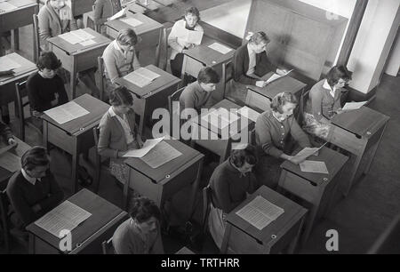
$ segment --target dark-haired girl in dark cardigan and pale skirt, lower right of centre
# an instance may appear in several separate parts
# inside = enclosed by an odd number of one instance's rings
[[[228,160],[212,172],[212,204],[208,227],[219,248],[222,245],[228,213],[258,187],[258,182],[252,174],[252,168],[257,164],[256,153],[256,148],[252,145],[234,149]]]

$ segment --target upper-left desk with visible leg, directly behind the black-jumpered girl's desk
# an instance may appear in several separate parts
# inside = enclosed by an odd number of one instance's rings
[[[76,96],[76,74],[89,68],[97,67],[97,57],[101,56],[111,40],[94,31],[92,28],[84,28],[84,31],[94,36],[96,44],[82,45],[70,44],[60,36],[48,39],[52,52],[61,60],[62,68],[69,71],[71,76],[71,91],[69,99]]]

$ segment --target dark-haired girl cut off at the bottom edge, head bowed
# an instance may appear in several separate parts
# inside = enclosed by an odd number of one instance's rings
[[[130,219],[124,221],[113,236],[116,254],[164,254],[161,239],[161,212],[147,197],[132,200]]]

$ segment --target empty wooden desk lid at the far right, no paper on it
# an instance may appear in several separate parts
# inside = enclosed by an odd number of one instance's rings
[[[357,136],[370,138],[388,119],[388,116],[363,106],[333,116],[332,123]]]

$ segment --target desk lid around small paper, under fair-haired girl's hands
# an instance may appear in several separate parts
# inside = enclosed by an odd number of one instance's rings
[[[302,172],[300,165],[292,164],[285,160],[281,167],[284,170],[292,172],[308,181],[311,181],[317,186],[326,186],[348,161],[348,156],[344,156],[339,152],[332,150],[331,148],[321,148],[318,156],[308,156],[308,161],[324,162],[329,174],[317,173],[317,172]]]

